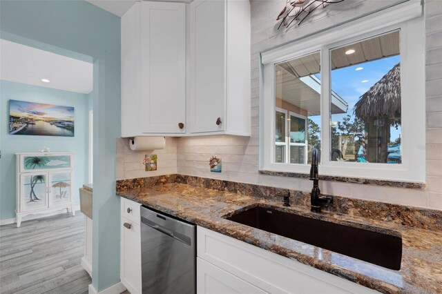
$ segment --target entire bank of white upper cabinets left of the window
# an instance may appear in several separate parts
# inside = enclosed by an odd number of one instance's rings
[[[121,27],[122,137],[251,134],[249,0],[141,1]]]

